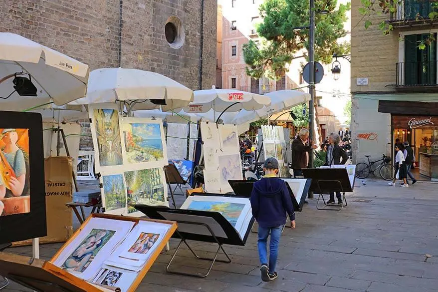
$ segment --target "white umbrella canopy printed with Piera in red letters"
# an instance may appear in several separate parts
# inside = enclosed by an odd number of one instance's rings
[[[213,109],[216,112],[236,112],[243,109],[260,109],[270,103],[270,98],[256,93],[235,89],[205,89],[194,91],[195,98],[188,107],[188,113],[206,113]],[[235,105],[229,107],[230,105]],[[229,107],[229,108],[228,108]],[[217,117],[216,117],[217,118]]]

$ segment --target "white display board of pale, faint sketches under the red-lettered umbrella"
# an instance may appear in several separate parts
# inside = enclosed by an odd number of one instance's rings
[[[228,180],[241,180],[242,162],[235,125],[201,122],[204,182],[209,193],[232,192]]]

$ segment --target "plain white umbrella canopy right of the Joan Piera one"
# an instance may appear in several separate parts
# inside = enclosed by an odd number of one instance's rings
[[[128,110],[162,109],[187,106],[193,91],[164,75],[126,68],[102,68],[91,71],[84,98],[70,104],[114,103],[125,101]],[[165,101],[165,105],[160,105]]]

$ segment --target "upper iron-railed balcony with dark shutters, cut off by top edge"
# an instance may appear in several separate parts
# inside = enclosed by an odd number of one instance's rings
[[[391,13],[390,22],[394,27],[421,26],[437,22],[437,17],[431,19],[430,13],[437,11],[434,0],[401,0],[397,10]]]

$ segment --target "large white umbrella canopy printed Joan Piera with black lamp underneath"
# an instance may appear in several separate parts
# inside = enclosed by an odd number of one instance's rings
[[[2,110],[64,105],[85,95],[88,75],[86,64],[18,34],[0,32]],[[29,79],[36,88],[32,88]]]

